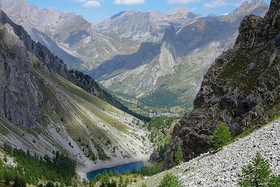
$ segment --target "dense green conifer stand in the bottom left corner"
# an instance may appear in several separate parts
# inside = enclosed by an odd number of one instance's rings
[[[18,166],[8,167],[1,162],[0,181],[14,181],[18,186],[25,186],[25,183],[38,185],[39,181],[59,181],[70,185],[73,176],[76,176],[76,163],[58,151],[51,159],[48,155],[44,158],[33,156],[29,151],[25,153],[7,144],[4,144],[3,150],[15,159]]]

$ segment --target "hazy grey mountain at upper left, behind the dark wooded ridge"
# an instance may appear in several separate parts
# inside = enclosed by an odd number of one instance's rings
[[[94,25],[74,13],[62,13],[54,8],[39,9],[25,0],[1,0],[1,9],[22,25],[32,39],[77,69],[92,68],[115,55],[122,46],[114,46],[114,43],[130,46],[129,41],[113,40],[98,33]],[[125,50],[130,52],[130,49]]]

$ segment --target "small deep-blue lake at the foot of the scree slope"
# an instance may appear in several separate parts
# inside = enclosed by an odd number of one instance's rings
[[[142,167],[144,167],[144,162],[139,161],[139,162],[131,162],[125,165],[117,165],[115,167],[109,167],[109,168],[102,168],[102,169],[97,169],[97,170],[93,170],[92,172],[88,172],[87,173],[87,179],[92,179],[94,178],[94,176],[97,176],[97,174],[99,173],[103,173],[103,172],[110,172],[110,171],[114,171],[116,170],[119,174],[123,174],[123,172],[126,171],[132,171],[132,169],[136,169],[137,171],[139,171]]]

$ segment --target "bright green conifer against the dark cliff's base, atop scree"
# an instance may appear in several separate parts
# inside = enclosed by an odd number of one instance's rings
[[[217,150],[218,148],[228,145],[230,138],[231,135],[228,127],[224,123],[221,123],[211,137],[211,150]]]

